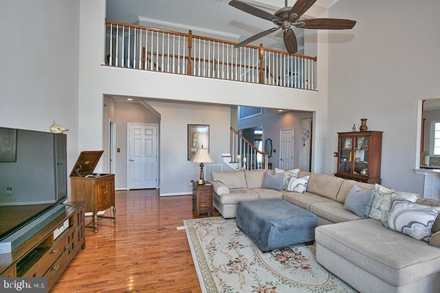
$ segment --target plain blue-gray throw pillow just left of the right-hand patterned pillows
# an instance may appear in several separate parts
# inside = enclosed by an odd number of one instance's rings
[[[373,202],[374,189],[362,189],[353,185],[345,199],[344,210],[353,212],[362,219],[369,216],[371,203]]]

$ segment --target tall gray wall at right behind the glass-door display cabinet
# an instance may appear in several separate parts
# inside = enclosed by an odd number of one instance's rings
[[[338,131],[384,131],[382,184],[423,192],[414,172],[419,100],[440,96],[440,1],[340,0],[330,17],[358,21],[329,36],[329,133],[326,173],[336,171]]]

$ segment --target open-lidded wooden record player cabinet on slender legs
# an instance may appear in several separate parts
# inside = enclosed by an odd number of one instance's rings
[[[70,198],[85,201],[85,211],[92,213],[92,228],[98,232],[98,218],[116,223],[115,175],[93,173],[103,151],[82,151],[70,173]],[[111,208],[110,216],[98,216],[98,211]]]

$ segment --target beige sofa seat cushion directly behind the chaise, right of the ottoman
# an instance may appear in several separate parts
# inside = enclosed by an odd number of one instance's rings
[[[317,202],[316,204],[311,204],[311,213],[314,213],[322,219],[331,221],[332,223],[340,223],[342,221],[352,221],[356,219],[361,219],[358,215],[344,210],[344,205],[339,202]]]

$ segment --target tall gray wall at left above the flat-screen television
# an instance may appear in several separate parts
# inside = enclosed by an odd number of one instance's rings
[[[0,1],[0,126],[69,128],[68,174],[78,158],[78,21],[78,1]]]

